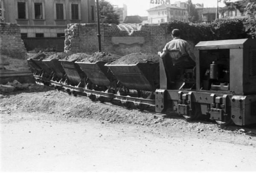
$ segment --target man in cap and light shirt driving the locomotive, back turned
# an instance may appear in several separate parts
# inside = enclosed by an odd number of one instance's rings
[[[165,56],[171,58],[172,64],[177,68],[195,67],[195,54],[191,51],[189,43],[180,39],[180,30],[172,30],[172,37],[173,40],[166,43],[163,52],[158,52],[158,55],[161,58]]]

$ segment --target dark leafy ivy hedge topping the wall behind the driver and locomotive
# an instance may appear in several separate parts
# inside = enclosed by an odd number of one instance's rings
[[[194,44],[200,41],[242,39],[256,36],[256,21],[217,20],[211,23],[189,23],[175,20],[167,24],[167,32],[180,29],[181,38]]]

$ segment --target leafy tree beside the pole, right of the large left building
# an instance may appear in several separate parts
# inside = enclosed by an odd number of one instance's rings
[[[119,15],[113,10],[111,3],[105,0],[99,1],[100,23],[116,23],[119,24]]]

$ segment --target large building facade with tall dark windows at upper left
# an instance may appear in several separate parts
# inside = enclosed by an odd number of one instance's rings
[[[1,0],[6,23],[21,37],[64,37],[68,23],[95,23],[95,0]]]

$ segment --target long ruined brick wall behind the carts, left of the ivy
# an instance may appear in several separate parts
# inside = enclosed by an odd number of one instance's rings
[[[138,31],[121,31],[115,24],[101,24],[102,51],[126,55],[133,52],[157,54],[172,37],[167,34],[166,24],[145,24]],[[65,30],[65,51],[98,51],[96,24],[69,24]]]

